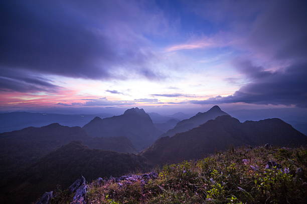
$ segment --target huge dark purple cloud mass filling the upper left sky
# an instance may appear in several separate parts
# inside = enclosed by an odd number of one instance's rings
[[[156,24],[139,25],[150,14],[134,1],[9,0],[1,2],[0,16],[2,67],[91,79],[124,79],[114,70],[125,67],[160,77],[146,64],[155,54],[134,33]]]

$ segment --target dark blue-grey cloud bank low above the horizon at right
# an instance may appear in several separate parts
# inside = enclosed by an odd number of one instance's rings
[[[239,65],[239,64],[237,64]],[[246,63],[241,64],[244,70]],[[257,69],[255,69],[257,70]],[[283,104],[307,107],[307,63],[294,64],[284,71],[255,71],[247,75],[252,82],[243,85],[233,95],[216,96],[207,100],[191,100],[195,104],[245,102],[255,104]]]

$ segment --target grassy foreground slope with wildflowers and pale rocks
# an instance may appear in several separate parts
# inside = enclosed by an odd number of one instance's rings
[[[305,147],[232,148],[201,160],[165,165],[158,169],[157,179],[146,183],[93,181],[86,199],[107,204],[307,203],[306,164]],[[72,197],[67,190],[56,193],[52,203],[69,203]]]

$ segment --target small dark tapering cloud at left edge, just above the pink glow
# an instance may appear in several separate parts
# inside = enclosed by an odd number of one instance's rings
[[[60,88],[60,86],[52,84],[49,79],[26,71],[12,71],[5,68],[2,68],[1,71],[0,91],[55,92]]]

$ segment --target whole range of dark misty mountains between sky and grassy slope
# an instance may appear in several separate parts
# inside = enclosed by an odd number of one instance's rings
[[[166,123],[176,126],[162,134]],[[83,127],[27,127],[0,134],[0,202],[33,201],[57,184],[67,187],[80,174],[87,179],[117,176],[232,146],[306,145],[306,138],[281,119],[240,122],[219,106],[179,122],[155,124],[135,107],[122,115],[95,117]]]

